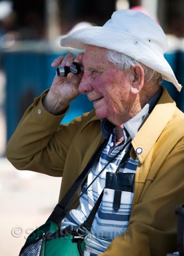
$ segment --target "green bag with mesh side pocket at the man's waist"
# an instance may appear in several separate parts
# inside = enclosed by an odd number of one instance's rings
[[[27,237],[19,256],[81,256],[84,253],[84,236],[77,227],[61,230],[53,221],[47,221]]]

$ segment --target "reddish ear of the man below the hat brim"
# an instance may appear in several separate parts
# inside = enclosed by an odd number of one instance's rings
[[[135,64],[134,79],[132,80],[130,92],[132,92],[133,94],[137,94],[141,92],[143,85],[144,85],[144,69],[140,64]]]

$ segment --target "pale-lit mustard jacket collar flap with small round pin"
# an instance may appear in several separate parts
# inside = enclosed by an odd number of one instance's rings
[[[135,154],[137,154],[141,164],[144,163],[144,159],[176,110],[176,103],[167,90],[164,87],[162,89],[163,93],[160,100],[158,100],[150,116],[132,140]]]

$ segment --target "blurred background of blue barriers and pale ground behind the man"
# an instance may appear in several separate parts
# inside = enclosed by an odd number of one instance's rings
[[[184,84],[183,0],[0,0],[1,255],[19,255],[26,237],[57,204],[61,185],[60,178],[15,170],[5,157],[7,141],[33,98],[50,87],[55,75],[50,63],[68,52],[59,46],[61,36],[102,26],[112,12],[128,8],[147,13],[162,26],[169,44],[165,58]],[[165,81],[164,86],[184,111],[183,90],[178,93]],[[92,108],[81,95],[63,122]]]

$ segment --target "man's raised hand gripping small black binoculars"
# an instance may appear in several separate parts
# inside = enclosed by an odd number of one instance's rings
[[[82,54],[73,56],[70,52],[65,57],[59,56],[52,62],[52,67],[70,67],[75,61],[82,65]],[[55,76],[49,92],[43,99],[43,106],[47,111],[54,115],[59,115],[69,106],[70,102],[79,95],[79,84],[81,83],[82,73],[79,75],[71,72],[67,77]]]

